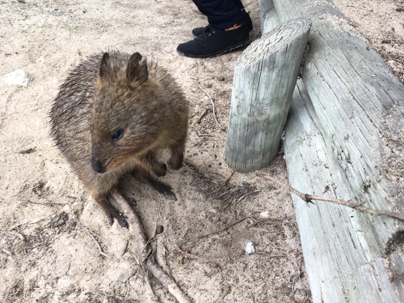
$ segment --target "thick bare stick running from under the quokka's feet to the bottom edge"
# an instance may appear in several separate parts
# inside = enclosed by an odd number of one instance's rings
[[[160,266],[154,264],[148,258],[150,249],[148,248],[143,226],[137,214],[133,211],[125,198],[123,198],[116,189],[112,189],[110,191],[110,194],[118,203],[119,207],[123,210],[124,214],[127,216],[130,225],[132,225],[137,245],[142,252],[144,264],[154,275],[154,277],[161,283],[161,285],[163,285],[164,288],[167,289],[168,292],[171,293],[179,303],[190,303],[191,300],[186,296],[184,292],[182,292],[181,289],[179,289],[175,281]]]

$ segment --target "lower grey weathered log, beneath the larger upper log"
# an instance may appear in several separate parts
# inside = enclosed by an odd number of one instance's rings
[[[290,184],[305,193],[355,201],[344,171],[335,162],[327,138],[317,126],[318,117],[304,84],[299,81],[284,141]],[[402,272],[404,267],[388,269],[379,260],[384,252],[377,240],[380,226],[376,223],[382,219],[385,228],[390,228],[390,219],[368,218],[366,214],[325,202],[309,208],[301,199],[292,197],[313,302],[392,303],[404,299],[393,291],[402,289],[402,281],[396,282],[401,285],[398,288],[389,281],[394,271]],[[396,253],[391,256],[401,258]]]

